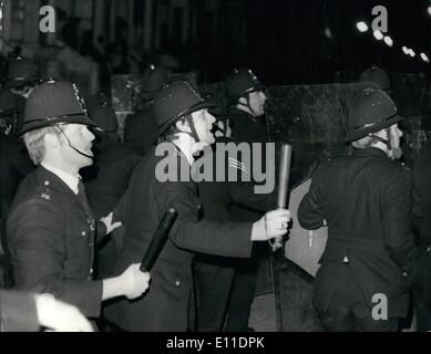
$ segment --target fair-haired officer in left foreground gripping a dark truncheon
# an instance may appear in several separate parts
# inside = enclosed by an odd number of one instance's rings
[[[90,317],[99,316],[102,300],[142,295],[150,279],[133,264],[92,280],[95,233],[119,226],[112,215],[95,222],[79,176],[92,164],[94,126],[74,84],[50,81],[33,90],[21,133],[38,168],[21,183],[7,225],[14,288],[50,293]]]

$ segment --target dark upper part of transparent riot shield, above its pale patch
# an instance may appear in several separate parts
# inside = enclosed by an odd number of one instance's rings
[[[368,86],[352,83],[268,87],[269,140],[293,145],[290,187],[309,178],[321,160],[348,152],[349,147],[343,143],[348,107],[350,101]],[[278,153],[277,146],[276,162]]]

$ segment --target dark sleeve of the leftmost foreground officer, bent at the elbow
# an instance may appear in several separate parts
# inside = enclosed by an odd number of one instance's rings
[[[102,282],[68,279],[63,210],[49,200],[31,199],[18,206],[8,219],[16,288],[51,293],[78,306],[86,316],[99,316]]]

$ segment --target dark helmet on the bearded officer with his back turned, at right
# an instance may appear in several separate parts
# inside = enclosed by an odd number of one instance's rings
[[[349,133],[345,142],[358,140],[402,121],[389,95],[374,88],[366,88],[353,98],[349,108]]]

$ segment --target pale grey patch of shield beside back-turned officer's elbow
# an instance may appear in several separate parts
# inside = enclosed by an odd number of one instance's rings
[[[291,214],[293,228],[289,240],[285,244],[285,257],[298,264],[307,273],[316,277],[319,269],[319,259],[324,253],[328,239],[328,228],[309,231],[302,229],[298,221],[298,207],[302,197],[310,188],[311,179],[307,179],[290,192],[289,210]]]

